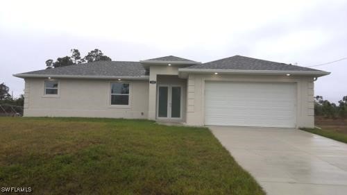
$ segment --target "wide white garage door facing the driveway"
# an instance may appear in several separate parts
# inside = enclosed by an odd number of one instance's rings
[[[206,81],[205,124],[294,128],[296,84]]]

